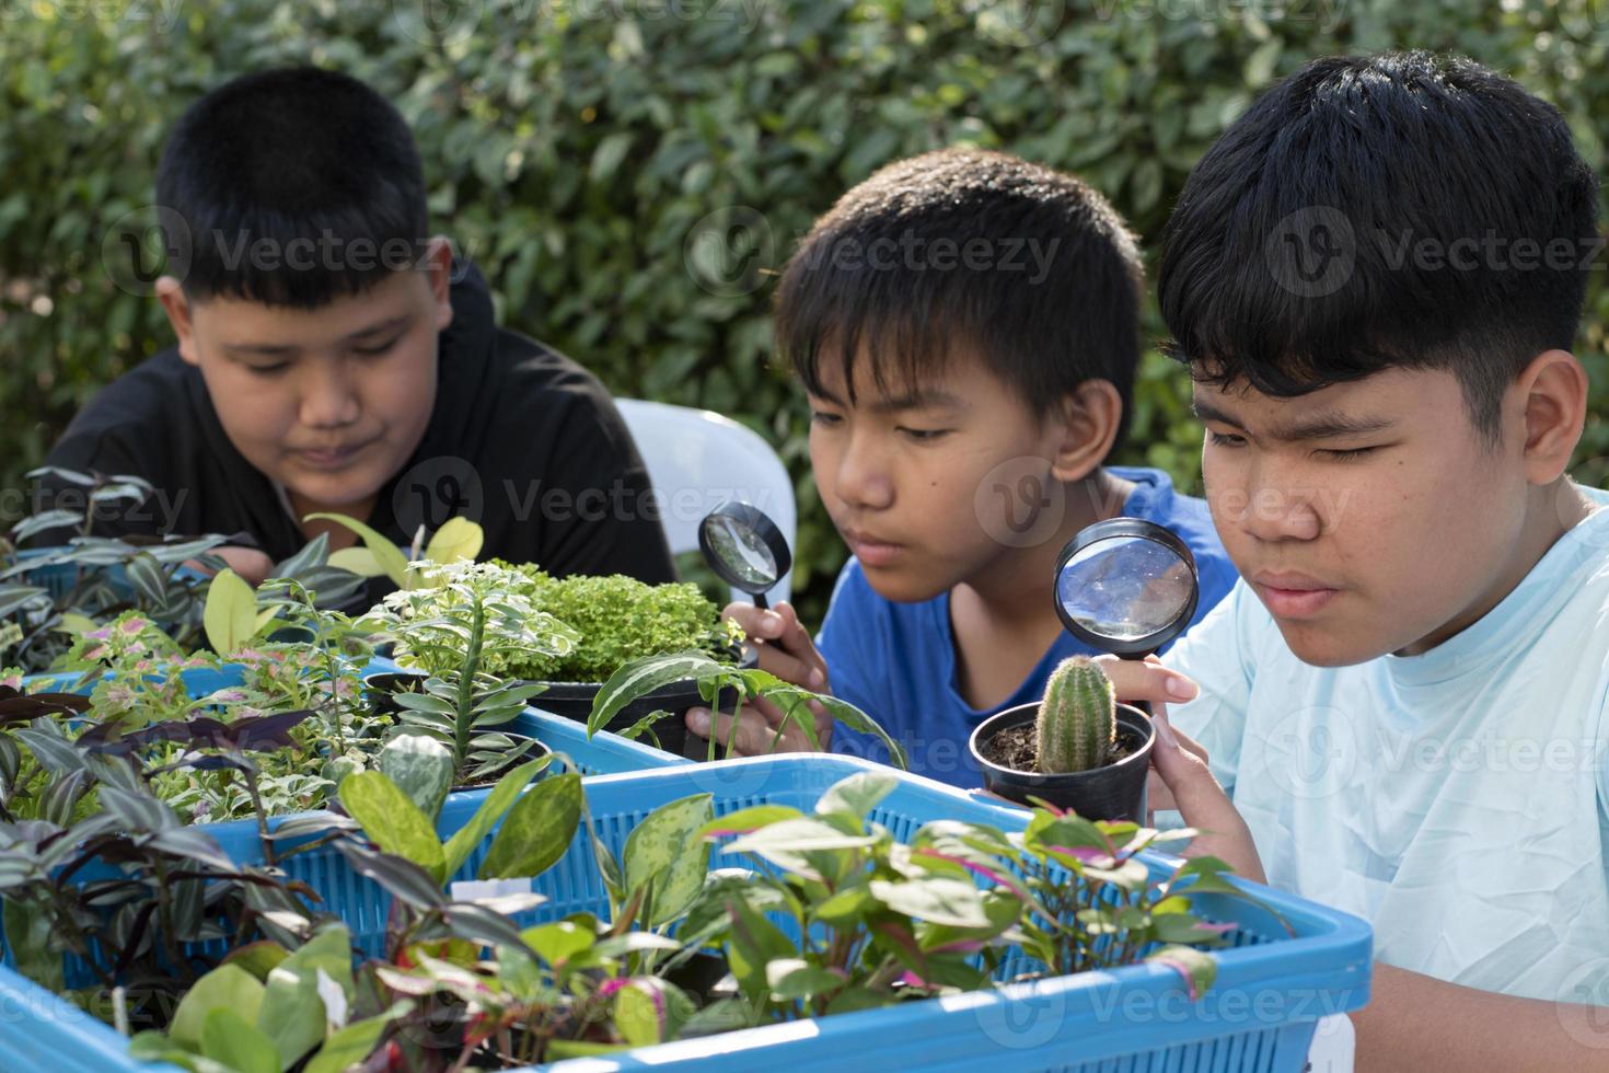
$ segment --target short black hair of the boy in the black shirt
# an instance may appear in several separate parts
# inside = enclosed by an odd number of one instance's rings
[[[191,105],[156,201],[187,230],[169,249],[185,251],[193,298],[315,309],[425,254],[414,134],[375,90],[319,68],[248,74]]]

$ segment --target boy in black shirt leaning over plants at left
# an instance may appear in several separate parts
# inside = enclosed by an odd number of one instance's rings
[[[426,232],[402,117],[328,71],[206,95],[158,172],[179,346],[101,391],[48,463],[158,494],[95,531],[246,532],[257,581],[338,512],[407,544],[462,515],[483,558],[674,579],[642,460],[602,384],[494,323],[478,272]],[[177,233],[175,233],[177,232]],[[177,264],[175,264],[177,262]],[[47,499],[68,486],[47,478]]]

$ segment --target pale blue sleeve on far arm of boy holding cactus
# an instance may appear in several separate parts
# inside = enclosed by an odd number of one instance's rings
[[[1200,687],[1195,700],[1168,706],[1168,721],[1207,748],[1213,775],[1229,795],[1234,795],[1241,767],[1241,742],[1257,677],[1255,645],[1249,635],[1258,611],[1257,594],[1239,582],[1163,658],[1167,666]]]

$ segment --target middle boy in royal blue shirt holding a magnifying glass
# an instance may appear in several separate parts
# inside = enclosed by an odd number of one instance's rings
[[[1234,581],[1207,504],[1104,465],[1128,425],[1139,301],[1139,254],[1105,199],[1012,156],[917,156],[817,220],[779,286],[777,346],[809,393],[816,486],[854,557],[819,650],[787,605],[727,608],[767,642],[761,666],[830,680],[912,771],[977,787],[973,727],[1088,653],[1052,600],[1073,534],[1115,515],[1173,529],[1205,615]],[[771,750],[777,722],[748,713],[739,750]],[[819,722],[833,750],[887,759]],[[708,713],[689,726],[708,734]],[[782,737],[809,748],[798,727]]]

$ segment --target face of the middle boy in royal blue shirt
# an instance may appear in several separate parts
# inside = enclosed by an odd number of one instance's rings
[[[890,388],[890,396],[877,393],[862,357],[856,405],[842,370],[829,365],[821,367],[824,394],[809,396],[811,468],[872,589],[888,600],[928,600],[1004,568],[1017,549],[991,531],[1004,532],[1006,512],[1020,515],[1023,505],[990,494],[988,484],[1012,463],[1014,484],[1049,487],[1065,426],[1041,421],[975,357],[956,356],[943,375]]]

